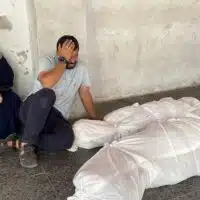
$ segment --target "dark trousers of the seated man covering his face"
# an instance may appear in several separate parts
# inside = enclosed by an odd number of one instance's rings
[[[72,146],[74,141],[72,126],[53,107],[55,100],[54,91],[43,88],[22,103],[20,119],[23,123],[23,142],[50,152]]]

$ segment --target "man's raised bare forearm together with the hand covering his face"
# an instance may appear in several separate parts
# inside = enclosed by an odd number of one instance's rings
[[[58,55],[69,61],[72,57],[74,47],[74,43],[67,40],[62,46],[59,45]],[[41,71],[38,75],[38,80],[41,82],[43,87],[52,88],[60,80],[66,67],[65,63],[58,63],[49,71]]]

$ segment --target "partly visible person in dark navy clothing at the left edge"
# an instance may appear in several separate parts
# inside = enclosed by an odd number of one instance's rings
[[[19,135],[21,100],[12,90],[14,73],[4,56],[0,58],[0,145]],[[15,137],[14,137],[15,138]]]

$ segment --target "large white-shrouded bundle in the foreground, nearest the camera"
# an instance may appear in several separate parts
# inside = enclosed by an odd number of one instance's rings
[[[74,178],[68,200],[141,200],[146,188],[200,175],[200,119],[151,123],[102,148]]]

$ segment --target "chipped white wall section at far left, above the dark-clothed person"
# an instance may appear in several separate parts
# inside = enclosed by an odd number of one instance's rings
[[[15,89],[26,96],[37,66],[35,9],[32,0],[0,1],[0,52],[15,72]]]

